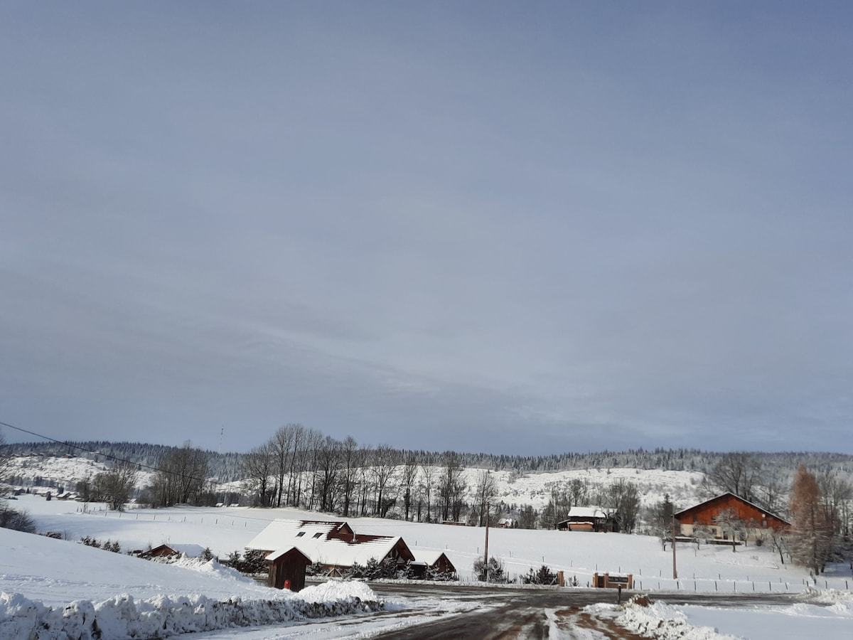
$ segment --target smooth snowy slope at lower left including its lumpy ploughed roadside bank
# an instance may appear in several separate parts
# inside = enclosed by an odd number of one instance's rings
[[[363,583],[303,594],[258,585],[215,561],[149,562],[0,529],[0,639],[153,638],[380,611]]]

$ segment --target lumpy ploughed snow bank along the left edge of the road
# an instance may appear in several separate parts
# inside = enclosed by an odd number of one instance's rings
[[[281,624],[361,614],[385,608],[359,582],[318,585],[302,594],[282,591],[276,599],[225,601],[207,596],[156,596],[135,600],[129,594],[102,602],[78,600],[65,608],[47,607],[18,593],[0,593],[0,640],[125,640],[163,638],[235,626]]]

